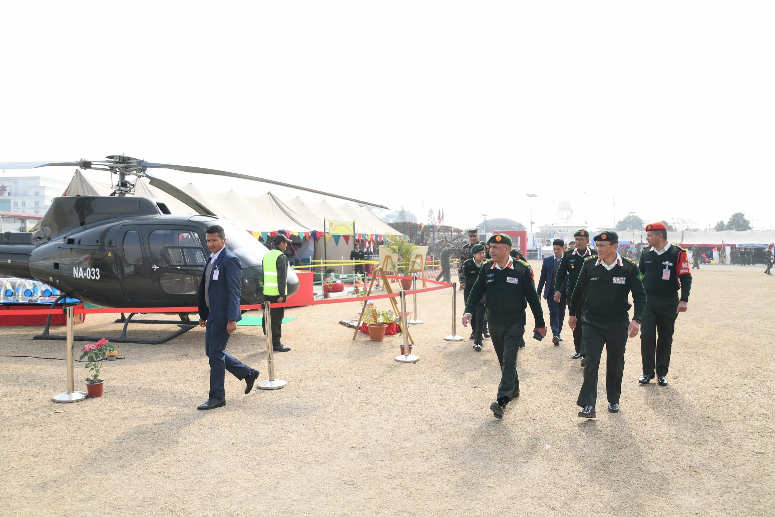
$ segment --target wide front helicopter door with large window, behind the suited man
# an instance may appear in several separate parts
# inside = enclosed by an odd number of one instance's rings
[[[151,278],[162,300],[191,300],[199,289],[207,258],[205,246],[194,228],[146,226],[145,239],[151,257]]]

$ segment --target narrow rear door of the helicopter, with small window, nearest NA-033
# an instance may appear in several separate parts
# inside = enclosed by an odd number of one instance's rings
[[[147,307],[148,301],[158,298],[151,278],[149,253],[140,242],[141,232],[140,226],[124,226],[119,234],[121,285],[127,302],[135,307]]]

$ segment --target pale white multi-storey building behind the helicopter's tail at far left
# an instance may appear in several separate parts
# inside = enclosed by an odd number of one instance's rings
[[[0,212],[43,215],[68,183],[42,176],[0,175]]]

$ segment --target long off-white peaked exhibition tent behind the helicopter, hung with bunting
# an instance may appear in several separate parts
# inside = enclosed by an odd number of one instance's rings
[[[110,195],[113,191],[111,185],[110,174],[77,169],[64,195]],[[401,233],[365,206],[354,207],[349,203],[332,205],[325,200],[308,202],[298,196],[280,199],[271,192],[247,195],[233,190],[204,191],[192,183],[177,188],[211,212],[231,219],[256,237],[261,235],[267,240],[270,234],[284,231],[296,243],[294,247],[298,258],[304,262],[310,259],[322,260],[324,257],[329,260],[350,257],[350,251],[353,250],[352,236],[325,235],[324,230],[328,228],[324,227],[324,220],[353,222],[353,233],[362,234],[360,236],[367,241],[384,239],[384,236],[401,236]],[[137,179],[135,192],[136,195],[164,202],[174,214],[196,212],[167,192],[150,185],[146,178]],[[297,238],[294,239],[294,236]],[[374,247],[376,249],[377,243],[374,243]]]

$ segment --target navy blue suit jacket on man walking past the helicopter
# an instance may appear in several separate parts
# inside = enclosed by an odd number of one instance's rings
[[[219,271],[218,280],[212,280],[215,271]],[[207,271],[207,266],[205,266]],[[205,303],[205,274],[199,282],[199,317],[214,325],[226,326],[229,319],[238,322],[242,319],[239,312],[239,298],[242,295],[242,262],[231,251],[223,248],[212,265],[210,280],[210,308]]]

